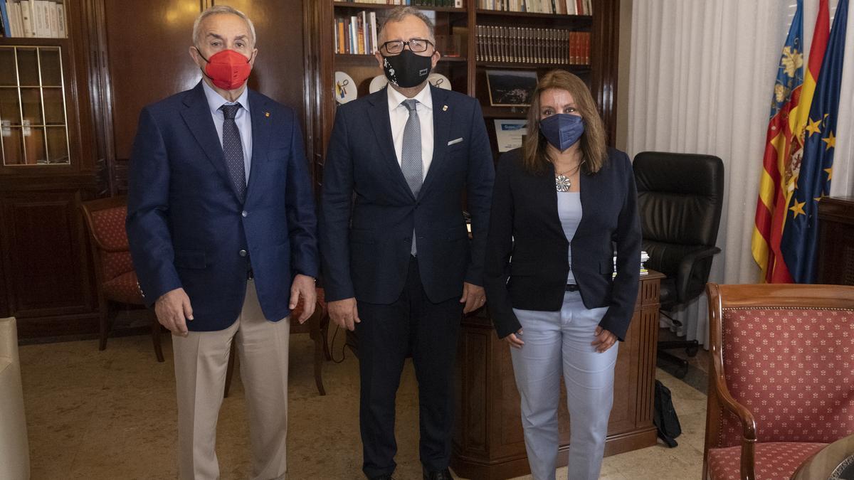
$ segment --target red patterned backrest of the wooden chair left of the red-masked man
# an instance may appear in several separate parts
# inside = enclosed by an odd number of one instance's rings
[[[132,272],[131,248],[125,231],[126,197],[83,202],[82,207],[89,227],[98,281],[106,282],[122,273]]]

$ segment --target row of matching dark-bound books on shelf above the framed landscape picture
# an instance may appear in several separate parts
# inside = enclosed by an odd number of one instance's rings
[[[590,64],[590,32],[478,25],[476,34],[478,61]]]

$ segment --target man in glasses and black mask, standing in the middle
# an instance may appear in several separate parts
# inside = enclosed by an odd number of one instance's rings
[[[366,476],[395,471],[395,392],[411,354],[424,478],[450,479],[459,322],[484,302],[494,167],[477,100],[427,82],[440,57],[430,19],[393,9],[378,44],[389,87],[338,108],[325,162],[325,294],[359,336]]]

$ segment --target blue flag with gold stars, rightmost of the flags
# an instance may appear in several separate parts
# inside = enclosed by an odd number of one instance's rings
[[[816,281],[818,202],[828,195],[833,173],[847,22],[848,0],[839,0],[810,106],[803,156],[793,158],[795,190],[788,205],[780,249],[793,280],[798,284]]]

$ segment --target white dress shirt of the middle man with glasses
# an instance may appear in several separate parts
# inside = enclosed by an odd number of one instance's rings
[[[389,96],[391,138],[395,141],[397,164],[401,165],[403,130],[407,126],[407,120],[409,120],[409,109],[403,105],[403,101],[407,100],[407,97],[396,91],[391,85],[385,90]],[[421,124],[421,179],[424,179],[430,169],[430,162],[433,161],[433,96],[430,94],[430,85],[424,85],[424,88],[413,98],[418,100],[415,111],[418,113],[418,122]]]

